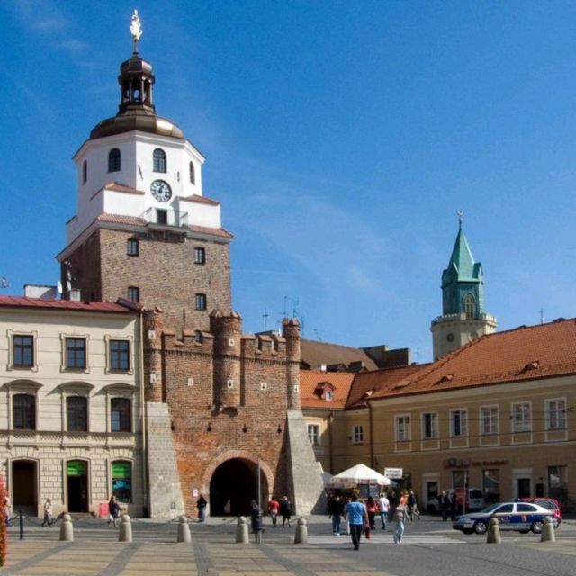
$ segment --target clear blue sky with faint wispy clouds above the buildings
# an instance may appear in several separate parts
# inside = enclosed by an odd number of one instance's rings
[[[430,359],[459,209],[500,329],[574,316],[576,4],[528,0],[4,0],[1,293],[58,280],[134,8],[236,236],[246,331],[298,301],[307,338]]]

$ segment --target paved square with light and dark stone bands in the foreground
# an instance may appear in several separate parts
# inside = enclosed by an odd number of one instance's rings
[[[501,545],[487,545],[482,536],[464,536],[449,524],[429,518],[408,525],[401,545],[392,533],[377,530],[360,551],[349,536],[333,536],[328,518],[309,521],[309,543],[293,544],[294,527],[266,527],[262,544],[235,543],[236,524],[211,518],[191,523],[192,545],[177,544],[175,523],[134,520],[133,542],[118,542],[118,530],[103,520],[74,523],[74,542],[61,542],[59,528],[26,522],[24,539],[18,527],[9,530],[8,560],[0,576],[466,576],[544,574],[573,576],[576,523],[563,523],[555,543],[539,536],[505,534]]]

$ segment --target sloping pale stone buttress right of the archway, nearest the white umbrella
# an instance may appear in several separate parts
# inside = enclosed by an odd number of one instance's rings
[[[320,466],[308,438],[302,410],[288,410],[287,460],[288,491],[293,495],[296,514],[306,516],[326,512],[326,494]]]

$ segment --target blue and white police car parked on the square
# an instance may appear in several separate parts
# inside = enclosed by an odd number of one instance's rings
[[[491,518],[497,518],[500,530],[517,530],[521,534],[532,530],[535,534],[540,534],[546,516],[552,519],[554,528],[558,527],[558,519],[554,518],[553,510],[529,502],[499,502],[480,512],[456,518],[452,527],[462,530],[464,534],[484,534]]]

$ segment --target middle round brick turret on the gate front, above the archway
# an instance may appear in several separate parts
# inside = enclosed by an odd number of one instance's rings
[[[235,311],[212,311],[210,330],[214,337],[214,406],[219,410],[238,409],[242,318]]]

